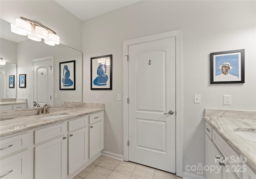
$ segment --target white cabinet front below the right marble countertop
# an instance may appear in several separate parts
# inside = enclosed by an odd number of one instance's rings
[[[221,166],[221,172],[206,171],[207,179],[256,179],[250,170],[226,141],[206,122],[206,165]],[[233,170],[234,169],[234,170]]]

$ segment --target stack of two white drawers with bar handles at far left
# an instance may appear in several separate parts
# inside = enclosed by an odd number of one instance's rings
[[[29,141],[29,133],[1,139],[1,179],[25,179],[32,176],[33,160],[30,155],[32,151],[28,149]]]

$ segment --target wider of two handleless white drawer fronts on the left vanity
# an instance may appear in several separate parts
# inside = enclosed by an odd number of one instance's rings
[[[50,127],[45,127],[42,129],[38,129],[34,132],[35,138],[34,143],[40,143],[54,137],[58,137],[63,135],[66,132],[66,125],[65,123],[60,123],[57,125],[52,125]]]

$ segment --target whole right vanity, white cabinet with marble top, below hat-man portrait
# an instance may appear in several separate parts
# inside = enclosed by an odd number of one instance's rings
[[[205,109],[207,179],[256,178],[256,112]],[[249,138],[240,132],[251,131]]]

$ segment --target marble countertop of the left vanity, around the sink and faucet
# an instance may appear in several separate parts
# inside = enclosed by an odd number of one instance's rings
[[[0,121],[0,137],[5,137],[14,133],[19,133],[22,131],[27,131],[29,129],[35,129],[37,127],[42,127],[45,125],[50,125],[54,123],[59,123],[62,121],[67,121],[77,117],[82,117],[84,115],[90,115],[92,113],[104,111],[102,108],[88,108],[88,107],[76,107],[73,109],[65,109],[62,111],[50,112],[50,114],[45,115],[30,115],[26,117],[19,117],[14,119],[6,119]],[[60,117],[57,119],[40,119],[40,117],[54,115],[54,114],[66,114],[69,115],[65,117]]]

